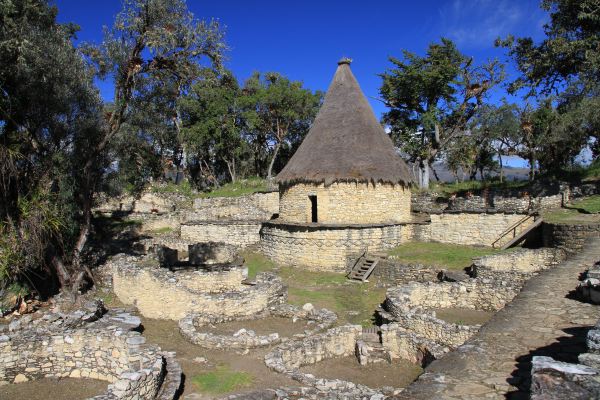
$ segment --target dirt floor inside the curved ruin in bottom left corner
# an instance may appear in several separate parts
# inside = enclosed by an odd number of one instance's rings
[[[0,386],[1,400],[82,400],[105,393],[108,382],[97,379],[39,379]]]

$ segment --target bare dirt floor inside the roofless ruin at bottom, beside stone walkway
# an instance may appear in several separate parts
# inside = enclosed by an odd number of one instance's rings
[[[403,388],[417,379],[423,369],[406,360],[394,361],[392,364],[383,362],[363,366],[358,363],[356,357],[351,356],[324,360],[302,367],[300,371],[317,377],[360,383],[371,388],[383,386]]]

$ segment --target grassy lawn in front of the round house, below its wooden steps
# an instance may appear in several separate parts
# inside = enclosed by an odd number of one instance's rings
[[[351,282],[339,273],[279,267],[251,251],[244,252],[243,256],[249,277],[263,271],[277,272],[288,285],[291,304],[312,303],[315,307],[327,308],[338,315],[340,324],[372,325],[375,309],[385,300],[385,289],[375,287],[374,282],[361,284]]]

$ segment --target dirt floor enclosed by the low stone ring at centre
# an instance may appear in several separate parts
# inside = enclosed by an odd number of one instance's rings
[[[224,322],[217,325],[207,325],[199,328],[203,332],[210,332],[220,335],[231,335],[240,329],[252,330],[257,335],[268,335],[278,333],[280,337],[291,337],[298,333],[304,333],[311,329],[315,324],[309,324],[305,320],[293,322],[290,318],[268,317],[248,321]]]

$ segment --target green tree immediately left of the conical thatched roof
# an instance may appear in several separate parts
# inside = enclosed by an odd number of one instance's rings
[[[241,99],[248,133],[253,137],[256,156],[265,149],[270,153],[267,179],[272,180],[273,166],[282,145],[301,141],[321,105],[322,93],[312,93],[302,82],[290,81],[276,73],[248,79]]]

